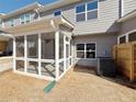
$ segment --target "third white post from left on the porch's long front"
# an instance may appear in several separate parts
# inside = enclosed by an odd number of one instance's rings
[[[38,76],[42,76],[42,68],[41,68],[41,57],[42,57],[42,42],[41,42],[41,34],[38,34]]]

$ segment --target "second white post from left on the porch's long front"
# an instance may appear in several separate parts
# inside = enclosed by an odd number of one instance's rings
[[[24,72],[26,73],[27,71],[27,39],[26,35],[24,35]]]

